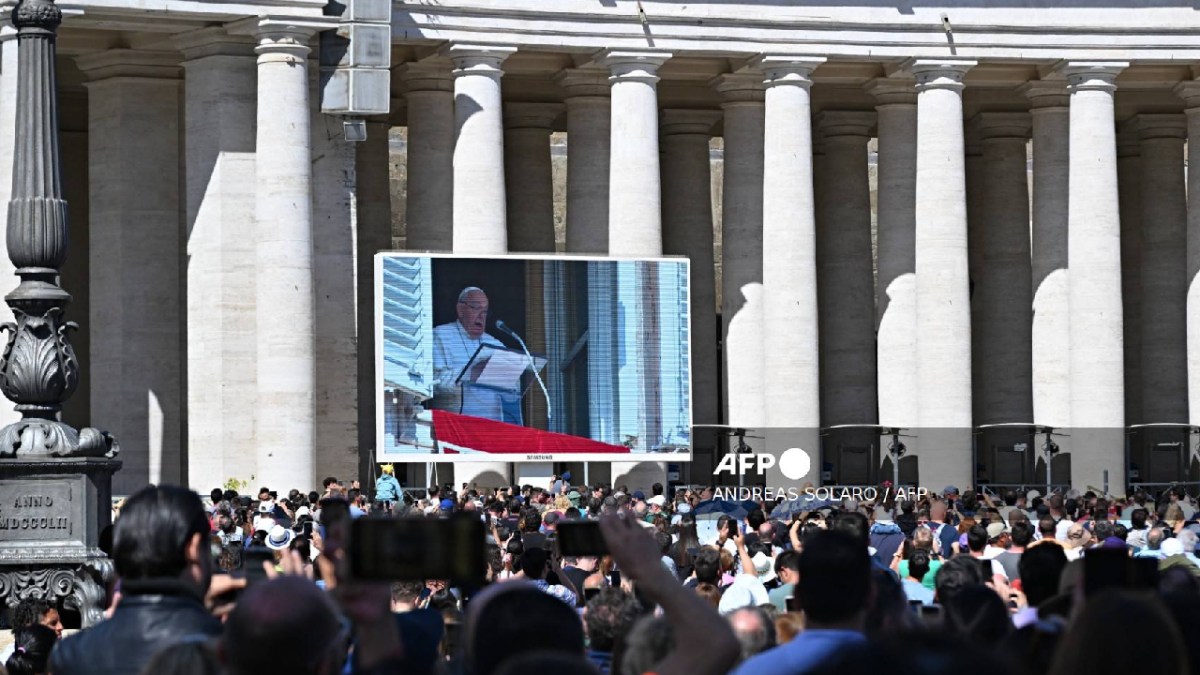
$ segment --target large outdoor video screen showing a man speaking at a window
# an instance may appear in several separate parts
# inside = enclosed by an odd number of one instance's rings
[[[379,253],[379,461],[690,459],[688,274]]]

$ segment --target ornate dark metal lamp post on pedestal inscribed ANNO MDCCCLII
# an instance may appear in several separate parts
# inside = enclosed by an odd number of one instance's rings
[[[22,419],[0,429],[0,599],[43,598],[100,621],[112,562],[100,550],[112,522],[112,477],[121,462],[107,432],[77,431],[61,419],[79,384],[71,348],[71,295],[59,286],[67,257],[67,203],[59,167],[53,0],[24,0],[17,28],[17,129],[8,258],[20,285],[5,297],[14,323],[0,357],[0,392]]]

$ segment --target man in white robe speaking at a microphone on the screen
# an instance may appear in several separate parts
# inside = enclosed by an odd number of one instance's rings
[[[522,424],[521,396],[456,383],[480,345],[504,348],[486,333],[487,294],[474,286],[458,294],[458,321],[433,329],[433,407],[473,417]]]

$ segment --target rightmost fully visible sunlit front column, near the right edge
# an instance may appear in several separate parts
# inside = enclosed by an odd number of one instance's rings
[[[1126,484],[1121,220],[1112,92],[1128,64],[1070,62],[1072,482]]]

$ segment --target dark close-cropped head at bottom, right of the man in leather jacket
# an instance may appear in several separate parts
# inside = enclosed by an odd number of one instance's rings
[[[229,614],[222,658],[230,675],[332,675],[344,645],[341,623],[324,591],[299,577],[256,584]]]

